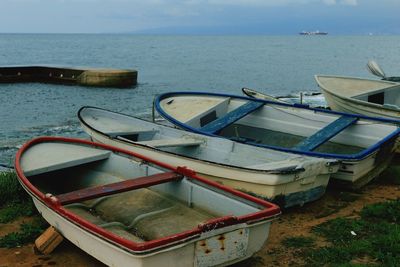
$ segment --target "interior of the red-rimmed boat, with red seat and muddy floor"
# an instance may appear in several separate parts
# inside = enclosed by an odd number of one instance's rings
[[[36,144],[21,166],[34,187],[55,196],[64,208],[133,242],[263,209],[181,174],[88,146]]]

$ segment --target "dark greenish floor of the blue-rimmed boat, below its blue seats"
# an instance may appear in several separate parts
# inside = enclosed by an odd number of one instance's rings
[[[241,124],[232,124],[226,127],[221,131],[220,135],[231,139],[239,137],[239,140],[245,138],[251,142],[285,148],[293,148],[306,139],[306,137],[299,135],[250,127]],[[364,150],[362,147],[342,145],[328,141],[313,151],[332,154],[355,154],[362,150]]]

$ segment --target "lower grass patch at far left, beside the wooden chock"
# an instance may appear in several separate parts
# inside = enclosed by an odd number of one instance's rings
[[[23,223],[18,232],[12,232],[0,238],[0,247],[13,248],[33,242],[46,228],[48,224],[42,218],[37,217],[30,223]]]

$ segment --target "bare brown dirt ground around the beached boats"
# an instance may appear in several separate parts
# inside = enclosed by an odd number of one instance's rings
[[[399,172],[400,173],[400,172]],[[389,171],[385,176],[397,175]],[[359,192],[341,192],[329,189],[325,196],[303,207],[283,211],[282,216],[271,226],[270,236],[265,247],[251,259],[235,266],[298,266],[302,258],[295,249],[282,245],[286,237],[309,236],[311,228],[337,217],[358,217],[359,211],[366,205],[385,200],[400,198],[400,186],[379,179],[365,186]],[[0,236],[18,229],[19,219],[11,224],[0,224]],[[317,239],[317,245],[324,245],[324,240]],[[5,266],[104,266],[79,248],[64,240],[51,255],[36,255],[33,244],[19,248],[0,248],[0,267]]]

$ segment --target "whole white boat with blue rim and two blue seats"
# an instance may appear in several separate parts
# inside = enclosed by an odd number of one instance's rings
[[[156,110],[183,129],[254,147],[341,160],[332,178],[360,187],[390,163],[398,121],[227,94],[175,92]]]

